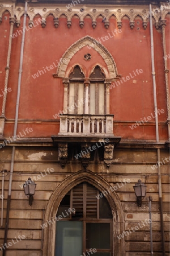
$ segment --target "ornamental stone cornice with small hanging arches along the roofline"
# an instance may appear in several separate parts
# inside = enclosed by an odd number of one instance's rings
[[[110,19],[112,16],[116,18],[117,27],[123,28],[122,19],[126,16],[129,19],[129,26],[131,29],[135,26],[135,18],[137,16],[141,17],[143,21],[143,28],[147,28],[148,18],[150,15],[149,6],[148,5],[82,5],[81,2],[76,5],[76,1],[70,2],[68,5],[54,5],[54,4],[41,4],[40,3],[28,3],[28,11],[27,15],[29,17],[29,26],[33,26],[34,18],[36,15],[41,16],[41,26],[46,27],[48,23],[46,23],[46,18],[49,15],[53,15],[54,18],[54,26],[57,28],[59,26],[59,18],[61,16],[65,16],[67,19],[67,27],[70,28],[73,26],[72,19],[76,16],[79,19],[79,26],[81,28],[84,27],[85,21],[84,19],[91,18],[92,27],[95,29],[97,26],[97,18],[101,17],[103,26],[108,29]],[[155,27],[156,29],[160,28],[160,20],[164,20],[165,16],[169,13],[170,4],[163,3],[160,6],[152,6],[152,16],[155,19]],[[20,26],[20,19],[24,14],[24,3],[18,4],[15,6],[15,3],[0,3],[0,24],[2,23],[2,15],[8,11],[11,17],[15,17],[16,26]]]

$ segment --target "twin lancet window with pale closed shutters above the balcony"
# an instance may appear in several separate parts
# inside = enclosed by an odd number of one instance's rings
[[[89,79],[85,79],[78,65],[69,77],[68,114],[106,114],[105,75],[97,65]]]

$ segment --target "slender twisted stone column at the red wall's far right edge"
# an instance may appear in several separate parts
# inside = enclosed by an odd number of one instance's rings
[[[169,98],[169,81],[168,81],[168,65],[167,65],[167,47],[166,47],[166,39],[165,39],[165,26],[166,20],[161,20],[160,26],[162,26],[162,39],[163,39],[163,51],[164,51],[164,73],[165,73],[165,85],[166,85],[166,93],[167,93],[167,110],[168,110],[168,141],[170,142],[170,98]]]

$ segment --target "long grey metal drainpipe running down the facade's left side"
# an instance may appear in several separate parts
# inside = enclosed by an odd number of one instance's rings
[[[23,20],[23,35],[22,35],[22,44],[20,49],[20,65],[19,65],[19,76],[18,76],[18,93],[16,98],[16,110],[15,110],[15,123],[14,123],[14,137],[16,136],[17,126],[18,126],[18,110],[19,110],[19,100],[20,100],[20,86],[22,79],[22,68],[23,68],[23,53],[24,53],[24,42],[25,42],[25,24],[27,18],[27,2],[25,2],[25,13]],[[10,170],[10,180],[8,188],[8,198],[7,198],[7,212],[6,212],[6,225],[5,225],[5,238],[4,244],[7,242],[7,232],[9,224],[9,214],[10,214],[10,203],[11,203],[11,190],[12,190],[12,174],[14,171],[14,155],[15,155],[15,146],[12,147],[12,156],[11,156],[11,170]],[[6,255],[6,250],[3,250],[3,256]]]

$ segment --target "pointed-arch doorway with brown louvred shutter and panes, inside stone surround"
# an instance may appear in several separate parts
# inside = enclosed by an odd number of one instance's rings
[[[87,182],[76,185],[58,207],[55,256],[111,256],[112,220],[99,189]]]

